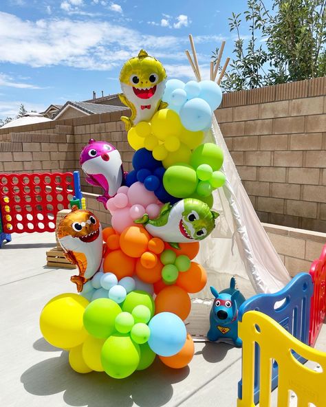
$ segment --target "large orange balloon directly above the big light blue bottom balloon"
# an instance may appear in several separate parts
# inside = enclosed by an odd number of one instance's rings
[[[155,298],[155,314],[172,312],[185,320],[191,311],[191,299],[184,289],[170,285],[160,291]]]

